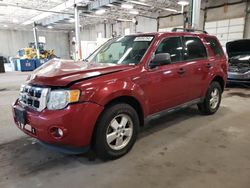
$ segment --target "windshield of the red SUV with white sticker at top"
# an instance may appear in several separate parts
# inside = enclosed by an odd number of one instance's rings
[[[125,36],[111,39],[87,58],[90,63],[136,65],[149,48],[154,37]]]

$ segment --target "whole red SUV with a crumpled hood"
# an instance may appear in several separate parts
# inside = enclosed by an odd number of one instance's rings
[[[114,159],[144,122],[197,104],[215,113],[227,59],[214,36],[195,32],[114,38],[84,62],[54,59],[35,70],[13,104],[17,126],[64,152],[93,148]]]

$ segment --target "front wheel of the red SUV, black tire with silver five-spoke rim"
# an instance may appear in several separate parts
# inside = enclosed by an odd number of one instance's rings
[[[138,130],[138,114],[130,105],[121,103],[107,107],[96,124],[94,151],[103,160],[117,159],[131,150]]]

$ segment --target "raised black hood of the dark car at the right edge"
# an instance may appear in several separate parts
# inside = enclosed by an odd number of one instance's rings
[[[250,55],[250,39],[231,41],[226,44],[228,57]]]

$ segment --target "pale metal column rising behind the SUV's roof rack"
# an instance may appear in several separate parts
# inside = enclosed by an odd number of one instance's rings
[[[190,0],[190,1],[191,1],[190,5],[192,6],[192,28],[199,29],[201,0]]]

